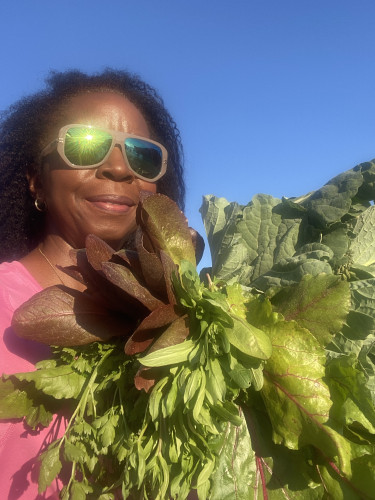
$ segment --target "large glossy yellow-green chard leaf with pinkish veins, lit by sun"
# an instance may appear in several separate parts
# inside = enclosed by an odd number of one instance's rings
[[[274,441],[290,449],[313,445],[350,474],[350,450],[345,439],[329,426],[332,405],[323,381],[325,354],[312,334],[294,322],[269,329],[272,357],[264,369],[261,390],[268,409]]]

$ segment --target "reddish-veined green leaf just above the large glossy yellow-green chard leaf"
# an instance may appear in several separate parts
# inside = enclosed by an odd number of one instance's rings
[[[349,312],[349,285],[338,276],[306,275],[297,285],[283,288],[272,303],[287,321],[295,320],[325,345],[341,330]]]

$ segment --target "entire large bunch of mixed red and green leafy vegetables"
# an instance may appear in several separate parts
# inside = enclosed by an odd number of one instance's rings
[[[69,414],[40,491],[64,466],[64,499],[375,498],[374,198],[374,162],[301,198],[207,196],[202,280],[165,196],[135,251],[89,236],[67,270],[87,291],[14,316],[52,359],[0,386],[1,418]]]

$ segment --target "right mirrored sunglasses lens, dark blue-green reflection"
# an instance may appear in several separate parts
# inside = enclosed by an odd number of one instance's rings
[[[155,179],[162,168],[162,151],[156,144],[142,139],[125,139],[125,152],[133,171],[146,179]]]

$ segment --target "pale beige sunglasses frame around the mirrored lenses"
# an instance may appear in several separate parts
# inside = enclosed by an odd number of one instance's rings
[[[84,128],[88,128],[88,129],[91,128],[93,130],[95,129],[95,130],[100,130],[102,132],[107,132],[108,134],[111,135],[111,137],[112,137],[111,146],[109,147],[107,154],[104,156],[104,158],[99,163],[95,163],[93,165],[75,165],[65,156],[64,147],[65,147],[66,133],[72,127],[84,127]],[[154,144],[160,148],[161,153],[162,153],[161,170],[156,177],[149,179],[148,177],[144,177],[143,175],[138,174],[135,170],[132,169],[132,167],[129,163],[128,157],[126,156],[126,151],[125,151],[125,139],[127,139],[127,138],[141,139],[142,141],[150,142],[151,144]],[[165,147],[162,144],[160,144],[160,142],[153,141],[152,139],[148,139],[147,137],[142,137],[140,135],[127,134],[126,132],[119,132],[117,130],[111,130],[111,129],[107,129],[107,128],[103,128],[103,127],[96,127],[94,125],[84,125],[83,123],[71,123],[69,125],[64,125],[63,127],[61,127],[61,129],[58,132],[57,139],[53,140],[45,148],[43,148],[43,150],[41,152],[41,156],[44,157],[44,156],[49,155],[56,148],[57,152],[59,153],[61,158],[64,160],[64,162],[70,168],[73,168],[75,170],[77,170],[77,169],[78,170],[91,169],[91,168],[97,168],[100,165],[102,165],[103,163],[105,163],[107,161],[107,159],[109,158],[110,154],[112,153],[113,149],[116,146],[119,146],[121,148],[122,155],[124,157],[124,160],[126,161],[126,164],[129,168],[129,170],[131,170],[131,172],[133,172],[133,174],[139,179],[142,179],[142,180],[147,181],[147,182],[156,182],[161,177],[163,177],[163,175],[167,171],[168,152],[165,149]]]

